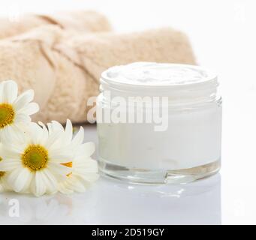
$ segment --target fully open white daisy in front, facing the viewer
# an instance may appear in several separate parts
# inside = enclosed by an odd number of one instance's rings
[[[70,172],[61,163],[73,157],[68,146],[59,144],[62,136],[60,130],[50,134],[42,123],[30,123],[25,133],[3,135],[0,171],[8,172],[8,184],[14,191],[41,196],[58,190],[58,182]]]

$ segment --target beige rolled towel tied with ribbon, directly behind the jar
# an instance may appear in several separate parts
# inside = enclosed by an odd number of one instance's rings
[[[41,111],[34,120],[40,121],[87,121],[87,100],[98,95],[101,72],[139,61],[195,64],[188,38],[172,28],[73,36],[44,26],[0,41],[0,80],[35,89]]]

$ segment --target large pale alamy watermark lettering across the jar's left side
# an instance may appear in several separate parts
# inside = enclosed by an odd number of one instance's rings
[[[128,96],[112,97],[108,91],[104,92],[104,99],[91,97],[87,106],[91,109],[87,113],[90,123],[113,124],[152,124],[155,131],[164,131],[168,128],[168,97]]]

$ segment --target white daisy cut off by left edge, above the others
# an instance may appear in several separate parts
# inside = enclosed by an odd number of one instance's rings
[[[13,80],[0,83],[0,138],[6,130],[21,130],[37,113],[38,104],[31,103],[34,91],[28,90],[18,96],[18,86]]]

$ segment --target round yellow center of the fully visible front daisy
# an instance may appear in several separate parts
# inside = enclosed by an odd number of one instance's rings
[[[39,171],[47,167],[48,151],[41,145],[29,145],[22,154],[22,160],[31,171]]]

